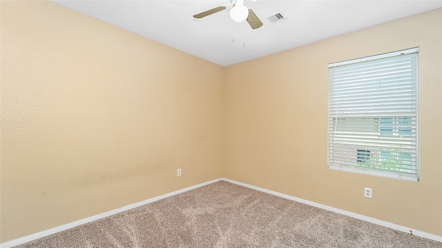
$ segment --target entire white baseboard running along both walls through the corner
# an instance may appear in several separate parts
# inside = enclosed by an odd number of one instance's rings
[[[227,179],[227,178],[218,178],[218,179],[215,179],[215,180],[210,180],[210,181],[205,182],[205,183],[200,183],[198,185],[193,185],[191,187],[186,187],[184,189],[180,189],[180,190],[177,190],[175,192],[164,194],[162,196],[157,196],[157,197],[154,197],[154,198],[150,198],[148,200],[143,200],[143,201],[141,201],[139,203],[134,203],[134,204],[131,204],[131,205],[127,205],[125,207],[120,207],[119,209],[114,209],[114,210],[111,210],[111,211],[107,211],[107,212],[105,212],[103,214],[97,214],[95,216],[90,216],[88,218],[77,220],[77,221],[74,221],[73,223],[68,223],[66,225],[61,225],[59,227],[54,227],[54,228],[51,228],[51,229],[48,229],[48,230],[45,230],[45,231],[39,231],[36,234],[30,234],[28,236],[17,238],[15,240],[10,240],[10,241],[7,241],[7,242],[3,242],[3,243],[0,244],[0,247],[8,248],[8,247],[14,247],[15,245],[21,245],[23,243],[30,242],[32,240],[36,240],[38,238],[43,238],[43,237],[49,236],[51,234],[56,234],[59,231],[64,231],[64,230],[67,230],[67,229],[70,229],[70,228],[73,228],[73,227],[77,227],[79,225],[90,223],[90,222],[92,222],[94,220],[99,220],[101,218],[105,218],[105,217],[111,216],[113,214],[121,213],[122,211],[127,211],[127,210],[133,209],[135,207],[140,207],[140,206],[146,205],[148,203],[153,203],[153,202],[155,202],[157,200],[161,200],[161,199],[167,198],[169,196],[175,196],[176,194],[180,194],[180,193],[183,193],[183,192],[188,192],[189,190],[196,189],[198,187],[202,187],[202,186],[205,186],[205,185],[209,185],[211,183],[215,183],[215,182],[218,182],[220,180],[225,180],[226,182],[234,183],[236,185],[241,185],[241,186],[244,186],[244,187],[248,187],[250,189],[256,189],[256,190],[258,190],[260,192],[265,192],[267,194],[273,194],[275,196],[280,196],[282,198],[287,198],[289,200],[294,200],[294,201],[297,201],[299,203],[305,203],[307,205],[311,205],[311,206],[314,206],[314,207],[319,207],[321,209],[333,211],[335,213],[343,214],[345,216],[350,216],[350,217],[357,218],[357,219],[360,219],[360,220],[365,220],[365,221],[367,221],[369,223],[374,223],[374,224],[377,224],[377,225],[381,225],[383,227],[389,227],[391,229],[396,229],[398,231],[404,231],[404,232],[406,232],[408,234],[410,234],[410,231],[412,231],[412,234],[415,235],[415,236],[420,236],[420,237],[423,237],[423,238],[428,238],[430,240],[436,240],[436,241],[442,242],[442,236],[438,236],[436,234],[430,234],[430,233],[427,233],[425,231],[419,231],[419,230],[412,229],[412,228],[409,228],[409,227],[404,227],[404,226],[401,226],[401,225],[396,225],[394,223],[389,223],[389,222],[384,221],[384,220],[378,220],[376,218],[371,218],[371,217],[368,217],[368,216],[363,216],[361,214],[355,214],[355,213],[352,213],[350,211],[345,211],[345,210],[342,210],[342,209],[337,209],[335,207],[329,207],[327,205],[323,205],[323,204],[320,204],[320,203],[314,203],[314,202],[309,201],[309,200],[304,200],[304,199],[297,198],[297,197],[294,197],[294,196],[289,196],[289,195],[286,195],[286,194],[281,194],[279,192],[273,192],[273,191],[271,191],[269,189],[263,189],[263,188],[256,187],[256,186],[253,186],[253,185],[248,185],[246,183],[240,183],[240,182],[237,182],[235,180],[230,180],[230,179]]]

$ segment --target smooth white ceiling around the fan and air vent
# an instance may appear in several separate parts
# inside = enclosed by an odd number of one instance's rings
[[[229,0],[53,2],[222,66],[442,8],[442,0],[246,0],[264,23],[252,30],[247,21],[230,19]],[[218,6],[227,9],[192,17]],[[286,18],[271,23],[267,18],[277,13]]]

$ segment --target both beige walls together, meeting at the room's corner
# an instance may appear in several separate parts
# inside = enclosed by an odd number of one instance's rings
[[[441,17],[221,68],[53,3],[1,1],[1,242],[221,176],[442,235]],[[327,169],[327,64],[415,46],[421,182]]]

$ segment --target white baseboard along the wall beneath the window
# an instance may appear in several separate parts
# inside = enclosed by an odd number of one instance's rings
[[[416,230],[416,229],[412,229],[410,227],[404,227],[404,226],[401,226],[401,225],[396,225],[394,223],[389,223],[389,222],[384,221],[384,220],[378,220],[376,218],[372,218],[372,217],[368,217],[368,216],[363,216],[362,214],[355,214],[355,213],[353,213],[351,211],[345,211],[343,209],[337,209],[336,207],[330,207],[330,206],[323,205],[323,204],[320,204],[320,203],[314,203],[314,202],[312,202],[310,200],[304,200],[304,199],[297,198],[297,197],[294,197],[294,196],[289,196],[289,195],[286,195],[286,194],[281,194],[279,192],[273,192],[273,191],[271,191],[269,189],[263,189],[261,187],[256,187],[256,186],[253,186],[253,185],[248,185],[246,183],[240,183],[240,182],[237,182],[235,180],[230,180],[230,179],[227,179],[227,178],[222,178],[222,180],[225,180],[226,182],[229,182],[229,183],[234,183],[236,185],[241,185],[241,186],[244,186],[244,187],[248,187],[250,189],[256,189],[256,190],[258,190],[260,192],[265,192],[267,194],[272,194],[272,195],[275,195],[275,196],[280,196],[282,198],[287,198],[289,200],[294,200],[294,201],[297,201],[299,203],[305,203],[307,205],[311,205],[311,206],[314,206],[314,207],[319,207],[321,209],[325,209],[325,210],[328,210],[328,211],[333,211],[335,213],[343,214],[345,216],[350,216],[350,217],[357,218],[357,219],[360,219],[360,220],[365,220],[365,221],[367,221],[369,223],[374,223],[376,225],[381,225],[383,227],[388,227],[388,228],[395,229],[395,230],[398,230],[398,231],[403,231],[403,232],[406,232],[408,234],[410,234],[410,231],[411,231],[412,235],[414,235],[414,236],[419,236],[419,237],[422,237],[422,238],[428,238],[430,240],[435,240],[435,241],[442,242],[442,236],[438,236],[436,234],[430,234],[430,233],[427,233],[425,231],[419,231],[419,230]]]

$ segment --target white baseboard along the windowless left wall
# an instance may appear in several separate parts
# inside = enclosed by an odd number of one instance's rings
[[[154,197],[154,198],[150,198],[148,200],[143,200],[143,201],[141,201],[139,203],[134,203],[134,204],[131,204],[131,205],[127,205],[125,207],[120,207],[119,209],[114,209],[114,210],[111,210],[111,211],[107,211],[106,213],[103,213],[103,214],[97,214],[95,216],[90,216],[88,218],[77,220],[77,221],[74,221],[73,223],[68,223],[66,225],[61,225],[59,227],[54,227],[54,228],[51,228],[51,229],[48,229],[48,230],[45,230],[45,231],[39,231],[36,234],[30,234],[28,236],[17,238],[15,240],[6,241],[6,242],[1,243],[0,247],[1,248],[8,248],[8,247],[14,247],[16,245],[21,245],[21,244],[24,244],[26,242],[30,242],[32,240],[36,240],[38,238],[43,238],[43,237],[49,236],[51,234],[56,234],[59,231],[64,231],[64,230],[67,230],[67,229],[70,229],[70,228],[73,228],[73,227],[77,227],[79,225],[83,225],[83,224],[86,224],[86,223],[93,222],[94,220],[99,220],[101,218],[105,218],[105,217],[108,217],[108,216],[111,216],[111,215],[114,215],[114,214],[119,214],[122,211],[127,211],[127,210],[133,209],[135,207],[140,207],[140,206],[146,205],[148,203],[153,203],[153,202],[155,202],[157,200],[161,200],[161,199],[164,199],[164,198],[167,198],[167,197],[170,197],[170,196],[175,196],[175,195],[183,193],[183,192],[188,192],[189,190],[196,189],[198,187],[202,187],[202,186],[205,186],[205,185],[209,185],[211,183],[215,183],[215,182],[218,182],[220,180],[222,180],[222,178],[210,180],[208,182],[200,183],[198,185],[193,185],[191,187],[186,187],[184,189],[180,189],[180,190],[177,190],[175,192],[164,194],[162,196],[157,196],[157,197]]]

